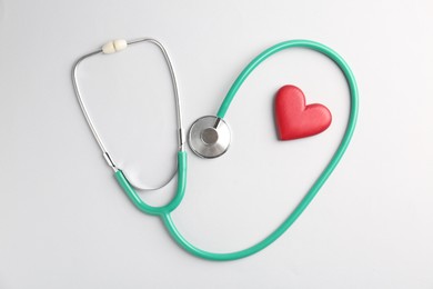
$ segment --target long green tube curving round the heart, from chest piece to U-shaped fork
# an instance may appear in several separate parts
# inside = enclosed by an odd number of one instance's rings
[[[310,188],[310,190],[306,192],[305,197],[301,200],[301,202],[296,206],[296,208],[290,213],[290,216],[266,238],[261,240],[260,242],[255,243],[254,246],[246,248],[244,250],[235,251],[235,252],[229,252],[229,253],[213,253],[208,252],[204,250],[201,250],[190,242],[188,242],[182,235],[178,231],[175,225],[173,223],[173,220],[170,216],[170,213],[162,215],[162,220],[164,221],[170,235],[172,238],[187,251],[190,253],[204,258],[210,260],[218,260],[218,261],[228,261],[228,260],[235,260],[240,258],[244,258],[248,256],[251,256],[253,253],[256,253],[258,251],[264,249],[269,245],[271,245],[273,241],[275,241],[281,235],[283,235],[290,226],[301,216],[301,213],[305,210],[305,208],[310,205],[310,202],[313,200],[315,195],[319,192],[320,188],[323,186],[323,183],[326,181],[326,179],[330,177],[332,171],[335,169],[336,165],[339,163],[340,159],[344,155],[344,151],[346,150],[349,142],[352,138],[353,131],[355,129],[356,124],[356,117],[358,117],[358,88],[356,88],[356,81],[355,78],[348,66],[348,63],[332,49],[309,40],[291,40],[281,42],[276,46],[273,46],[265,51],[263,51],[261,54],[259,54],[255,59],[253,59],[250,64],[246,66],[246,68],[241,72],[241,74],[238,77],[238,79],[234,81],[232,87],[230,88],[226,97],[224,98],[224,101],[222,102],[220,110],[218,111],[218,117],[223,118],[230,107],[231,101],[233,100],[233,97],[238,92],[239,88],[243,83],[243,81],[248,78],[248,76],[266,58],[271,57],[272,54],[289,48],[294,47],[301,47],[301,48],[308,48],[315,50],[330,59],[332,59],[341,69],[341,71],[344,73],[344,77],[348,81],[349,88],[350,88],[350,98],[351,98],[351,104],[350,104],[350,116],[348,121],[348,127],[345,129],[344,136],[333,155],[331,161],[326,166],[326,168],[322,171],[318,180],[313,183],[313,186]]]

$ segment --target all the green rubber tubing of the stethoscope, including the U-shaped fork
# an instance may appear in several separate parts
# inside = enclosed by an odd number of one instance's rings
[[[289,215],[289,217],[268,237],[265,237],[263,240],[259,241],[258,243],[234,252],[229,253],[215,253],[215,252],[209,252],[204,251],[202,249],[197,248],[192,243],[190,243],[188,240],[185,240],[182,235],[177,229],[173,219],[171,218],[171,211],[173,211],[181,202],[184,190],[185,190],[185,180],[187,180],[187,152],[179,151],[178,152],[178,168],[179,168],[179,176],[178,176],[178,190],[175,197],[165,206],[163,207],[151,207],[143,202],[139,195],[135,192],[135,190],[129,185],[128,180],[124,178],[121,170],[115,172],[115,178],[122,189],[127,192],[128,197],[132,200],[132,202],[143,212],[150,213],[150,215],[157,215],[160,216],[163,223],[165,225],[168,231],[170,232],[171,237],[188,252],[209,260],[218,260],[218,261],[226,261],[226,260],[235,260],[240,258],[244,258],[248,256],[251,256],[264,248],[266,248],[269,245],[271,245],[273,241],[275,241],[281,235],[283,235],[291,226],[292,223],[301,216],[301,213],[305,210],[305,208],[310,205],[310,202],[314,199],[315,195],[319,192],[319,190],[322,188],[324,182],[328,180],[328,178],[331,176],[332,171],[335,169],[336,165],[339,163],[340,159],[343,157],[345,150],[348,149],[349,142],[353,136],[353,131],[355,129],[356,124],[356,117],[358,117],[358,88],[356,88],[356,81],[355,78],[349,67],[349,64],[341,58],[335,51],[332,49],[314,41],[310,40],[290,40],[285,42],[281,42],[279,44],[275,44],[266,50],[264,50],[262,53],[260,53],[256,58],[254,58],[246,67],[245,69],[240,73],[240,76],[236,78],[236,80],[233,82],[232,87],[230,88],[228,94],[225,96],[220,110],[218,111],[216,116],[219,118],[223,118],[230,107],[230,103],[232,102],[235,93],[238,92],[239,88],[242,86],[242,83],[245,81],[248,76],[265,59],[271,57],[272,54],[284,50],[289,48],[306,48],[315,50],[326,57],[329,57],[331,60],[333,60],[341,71],[343,72],[348,84],[350,89],[350,116],[348,126],[344,132],[344,136],[334,152],[332,159],[330,160],[326,168],[322,171],[320,177],[315,180],[313,186],[310,188],[310,190],[306,192],[304,198],[301,200],[301,202],[295,207],[295,209]]]

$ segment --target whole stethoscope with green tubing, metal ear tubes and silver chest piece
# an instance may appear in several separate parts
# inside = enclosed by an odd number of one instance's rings
[[[77,82],[77,72],[79,64],[90,57],[97,56],[97,54],[110,54],[114,53],[121,50],[124,50],[128,48],[128,46],[138,44],[149,42],[155,44],[160,51],[162,52],[165,63],[169,68],[170,76],[171,76],[171,82],[173,87],[173,93],[174,93],[174,101],[175,101],[175,109],[177,109],[177,122],[178,122],[178,143],[179,143],[179,150],[178,150],[178,186],[177,186],[177,192],[174,197],[164,206],[161,207],[153,207],[148,203],[145,203],[140,196],[137,193],[135,189],[144,189],[144,190],[155,190],[159,188],[164,187],[170,180],[165,181],[161,186],[151,188],[151,187],[139,187],[137,185],[132,185],[131,181],[128,180],[125,173],[117,167],[114,160],[111,158],[109,152],[105,149],[105,146],[102,142],[101,137],[99,136],[91,117],[88,113],[87,107],[83,102],[83,99],[81,97],[81,92]],[[234,252],[229,253],[215,253],[215,252],[209,252],[204,251],[202,249],[197,248],[192,243],[190,243],[188,240],[184,239],[184,237],[179,232],[177,229],[173,219],[171,217],[171,212],[181,203],[184,192],[185,192],[185,185],[187,185],[187,152],[184,150],[184,138],[183,138],[183,127],[182,127],[182,116],[181,116],[181,103],[179,98],[179,91],[178,91],[178,84],[175,80],[175,74],[173,67],[171,64],[169,54],[165,50],[165,48],[157,40],[150,39],[150,38],[142,38],[137,39],[132,41],[125,41],[125,40],[114,40],[105,43],[101,49],[98,49],[93,52],[90,52],[88,54],[84,54],[81,57],[73,66],[72,70],[72,83],[74,87],[77,99],[80,103],[81,110],[84,114],[84,118],[90,127],[90,130],[93,133],[94,139],[97,140],[102,155],[107,161],[107,163],[113,169],[114,177],[120,185],[120,187],[123,189],[123,191],[127,193],[127,196],[130,198],[130,200],[135,205],[135,207],[148,213],[153,216],[159,216],[163,223],[165,225],[168,231],[170,232],[171,237],[181,246],[183,249],[189,251],[190,253],[204,258],[210,260],[234,260],[244,258],[248,256],[251,256],[269,245],[271,245],[273,241],[275,241],[281,235],[283,235],[291,225],[300,217],[300,215],[304,211],[304,209],[309,206],[309,203],[313,200],[315,195],[319,192],[320,188],[323,186],[323,183],[326,181],[326,179],[330,177],[336,165],[339,163],[340,159],[344,155],[349,142],[352,138],[355,123],[356,123],[356,117],[358,117],[358,88],[356,88],[356,81],[354,79],[354,76],[348,66],[348,63],[341,58],[335,51],[332,49],[314,41],[310,40],[290,40],[285,42],[281,42],[279,44],[275,44],[271,48],[268,48],[262,53],[260,53],[258,57],[255,57],[239,74],[236,80],[233,82],[232,87],[230,88],[229,92],[226,93],[223,102],[221,103],[220,109],[216,112],[216,116],[207,116],[198,119],[191,127],[188,133],[188,142],[194,153],[198,156],[211,159],[211,158],[218,158],[222,156],[230,146],[231,142],[231,131],[226,122],[224,121],[224,116],[228,112],[230,108],[230,103],[232,102],[234,96],[236,94],[239,88],[242,86],[244,80],[249,77],[249,74],[265,59],[271,57],[272,54],[284,50],[289,48],[306,48],[314,51],[318,51],[326,57],[329,57],[331,60],[335,62],[336,66],[341,69],[343,72],[348,84],[350,89],[350,114],[348,120],[348,126],[344,132],[344,136],[334,152],[332,159],[330,160],[326,168],[322,171],[320,177],[316,179],[316,181],[313,183],[313,186],[310,188],[310,190],[306,192],[304,198],[301,200],[301,202],[295,207],[295,209],[289,215],[289,217],[268,237],[265,237],[263,240],[259,241],[258,243]]]

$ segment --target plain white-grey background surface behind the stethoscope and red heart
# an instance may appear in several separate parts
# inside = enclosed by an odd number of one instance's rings
[[[432,289],[432,28],[430,0],[0,0],[0,288]],[[214,114],[242,68],[280,41],[316,40],[351,64],[360,89],[352,143],[301,218],[258,255],[231,262],[190,256],[115,183],[70,72],[105,41],[139,37],[167,46],[185,129]],[[169,178],[174,107],[158,50],[97,57],[79,80],[130,178]],[[289,83],[330,108],[329,130],[278,141],[273,97]],[[326,165],[348,109],[344,78],[326,58],[293,49],[269,59],[226,114],[228,153],[189,153],[187,196],[173,213],[180,231],[218,252],[265,237]],[[172,191],[142,197],[163,203]]]

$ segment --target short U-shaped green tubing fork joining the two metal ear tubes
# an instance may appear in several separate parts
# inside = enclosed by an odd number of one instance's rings
[[[141,211],[147,212],[149,215],[160,215],[170,213],[172,210],[178,208],[179,203],[182,201],[183,196],[185,193],[185,185],[187,185],[187,152],[179,151],[178,152],[178,190],[173,199],[165,206],[161,207],[152,207],[147,205],[137,191],[129,183],[127,178],[124,177],[121,170],[118,170],[115,173],[115,179],[118,180],[120,187],[127,192],[128,197],[131,201],[139,208]]]

